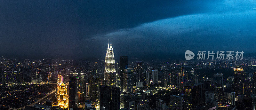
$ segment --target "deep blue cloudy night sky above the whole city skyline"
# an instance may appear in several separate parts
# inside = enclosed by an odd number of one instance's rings
[[[255,0],[0,0],[0,55],[256,52]]]

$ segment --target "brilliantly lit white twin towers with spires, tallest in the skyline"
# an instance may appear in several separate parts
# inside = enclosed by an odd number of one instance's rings
[[[104,76],[107,80],[107,84],[110,87],[116,86],[116,66],[115,66],[115,56],[112,48],[112,43],[110,43],[110,47],[108,45],[106,57],[105,57],[105,69]]]

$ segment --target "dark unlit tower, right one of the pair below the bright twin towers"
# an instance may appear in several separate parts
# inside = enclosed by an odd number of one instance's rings
[[[120,88],[111,88],[111,110],[120,109]]]

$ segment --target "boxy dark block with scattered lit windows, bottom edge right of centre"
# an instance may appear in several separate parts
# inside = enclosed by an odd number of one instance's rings
[[[183,110],[183,98],[176,95],[170,95],[170,110]]]

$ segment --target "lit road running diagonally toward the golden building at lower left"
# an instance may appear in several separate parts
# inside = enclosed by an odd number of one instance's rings
[[[66,85],[68,85],[69,83],[66,83]],[[46,96],[44,96],[43,98],[40,98],[38,100],[36,100],[35,102],[27,105],[27,106],[33,106],[37,103],[44,103],[46,100],[50,99],[51,97],[48,97],[48,96],[51,96],[51,95],[54,95],[54,93],[56,93],[56,88],[54,90],[52,90],[52,92],[48,93]],[[20,107],[20,108],[17,108],[17,109],[12,109],[12,110],[24,110],[26,106],[23,106],[23,107]]]

